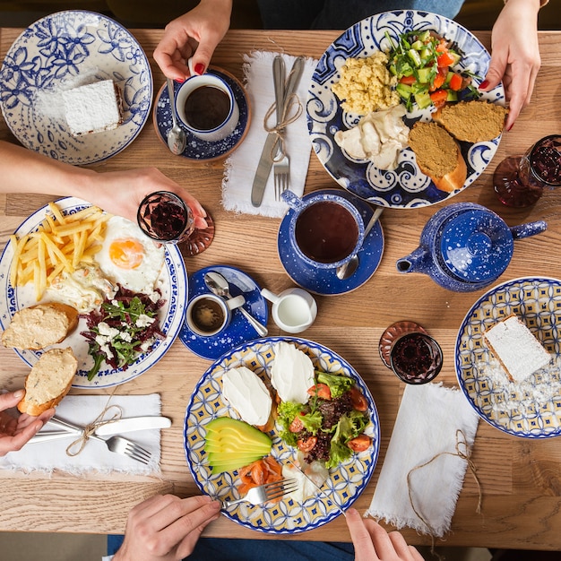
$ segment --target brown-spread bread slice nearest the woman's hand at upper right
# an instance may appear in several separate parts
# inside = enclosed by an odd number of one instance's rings
[[[488,101],[460,101],[436,109],[433,121],[463,142],[487,142],[503,132],[508,109]]]

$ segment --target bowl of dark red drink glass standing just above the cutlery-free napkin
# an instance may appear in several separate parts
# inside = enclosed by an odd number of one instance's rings
[[[440,345],[427,333],[409,332],[393,341],[390,367],[406,384],[427,384],[442,368]]]

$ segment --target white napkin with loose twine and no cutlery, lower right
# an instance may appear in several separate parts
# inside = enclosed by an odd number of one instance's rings
[[[409,526],[420,533],[444,536],[468,467],[468,461],[456,455],[457,431],[462,431],[462,442],[467,444],[459,450],[469,455],[478,421],[459,390],[441,384],[408,385],[367,514],[398,530]],[[430,529],[415,513],[410,497]]]

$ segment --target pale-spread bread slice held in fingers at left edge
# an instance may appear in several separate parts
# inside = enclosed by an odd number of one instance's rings
[[[56,407],[70,391],[78,360],[70,347],[44,352],[25,379],[25,396],[18,410],[37,417]]]

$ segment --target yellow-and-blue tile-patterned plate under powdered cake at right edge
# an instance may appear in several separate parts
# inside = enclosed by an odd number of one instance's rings
[[[552,357],[522,383],[509,381],[483,342],[483,332],[513,314]],[[455,366],[463,393],[491,426],[525,438],[561,436],[561,280],[528,277],[488,290],[462,322]]]

